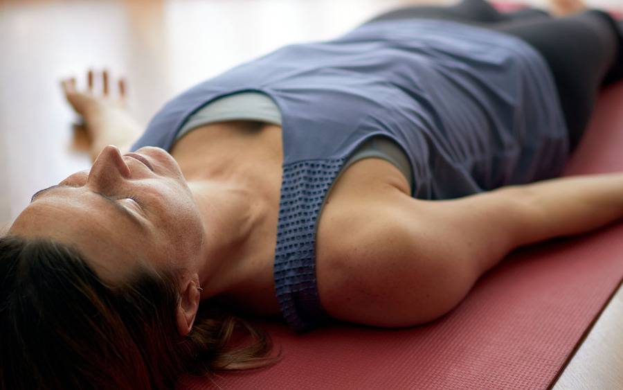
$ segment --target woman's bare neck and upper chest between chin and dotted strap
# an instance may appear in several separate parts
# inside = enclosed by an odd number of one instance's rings
[[[204,221],[201,298],[248,302],[258,291],[273,296],[281,127],[214,123],[183,136],[171,154]]]

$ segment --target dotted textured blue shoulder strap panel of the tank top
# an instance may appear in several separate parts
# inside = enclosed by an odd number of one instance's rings
[[[282,315],[296,332],[327,319],[316,286],[316,219],[344,162],[323,159],[283,167],[274,276]]]

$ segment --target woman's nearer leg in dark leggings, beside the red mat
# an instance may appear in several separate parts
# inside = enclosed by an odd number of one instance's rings
[[[600,10],[557,19],[508,21],[489,28],[509,33],[536,48],[548,63],[559,93],[571,148],[579,143],[597,91],[621,77],[622,46],[615,21]]]

